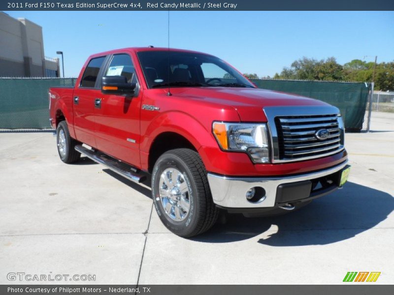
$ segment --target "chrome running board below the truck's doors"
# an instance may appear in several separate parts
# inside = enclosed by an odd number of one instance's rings
[[[87,156],[89,159],[104,165],[113,172],[123,176],[131,181],[140,183],[145,180],[146,176],[143,175],[137,168],[119,161],[105,153],[95,151],[93,149],[85,148],[82,145],[75,146],[75,150]]]

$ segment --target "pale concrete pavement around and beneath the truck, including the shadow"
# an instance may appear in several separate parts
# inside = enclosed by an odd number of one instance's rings
[[[84,159],[63,164],[51,133],[0,134],[0,284],[7,273],[95,274],[91,284],[393,284],[394,114],[347,133],[352,171],[334,194],[284,216],[244,218],[192,239],[161,224],[148,186]],[[53,283],[81,283],[75,281]],[[48,282],[49,283],[49,282]]]

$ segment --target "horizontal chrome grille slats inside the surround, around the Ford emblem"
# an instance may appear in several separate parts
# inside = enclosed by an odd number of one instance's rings
[[[336,114],[324,116],[289,116],[275,119],[278,132],[279,158],[302,159],[324,155],[341,147],[340,129]],[[328,137],[320,140],[316,133],[328,130]]]

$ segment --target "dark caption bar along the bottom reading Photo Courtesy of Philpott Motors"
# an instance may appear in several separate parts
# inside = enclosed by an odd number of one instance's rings
[[[393,285],[0,285],[1,295],[391,295]],[[11,292],[19,288],[22,292]],[[56,288],[56,289],[55,289]],[[63,288],[63,289],[61,289]],[[86,289],[84,289],[86,288]],[[112,289],[116,292],[110,292]],[[138,289],[136,289],[138,288]],[[124,291],[122,292],[122,289]],[[33,292],[33,290],[42,290]],[[46,291],[45,291],[46,290]],[[49,290],[49,293],[47,292]],[[55,291],[57,290],[57,291]],[[62,290],[62,291],[60,291]],[[28,292],[26,292],[28,291]],[[121,291],[121,292],[118,292]]]

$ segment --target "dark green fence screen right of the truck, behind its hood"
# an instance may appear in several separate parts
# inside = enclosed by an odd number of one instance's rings
[[[257,79],[253,79],[252,82],[259,88],[295,93],[325,101],[341,111],[347,130],[362,129],[370,92],[368,83]]]

